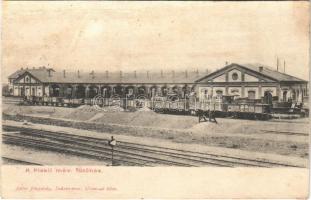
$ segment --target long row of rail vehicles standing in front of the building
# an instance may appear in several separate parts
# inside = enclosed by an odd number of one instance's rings
[[[232,117],[244,119],[271,118],[271,105],[256,102],[223,102],[198,101],[195,98],[175,99],[158,97],[152,99],[100,98],[100,99],[68,99],[60,97],[27,97],[31,105],[78,107],[80,105],[120,106],[125,110],[148,107],[158,113],[175,115],[197,115],[198,111],[215,113],[216,117]]]

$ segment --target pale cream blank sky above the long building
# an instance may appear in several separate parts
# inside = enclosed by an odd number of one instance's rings
[[[262,63],[308,80],[308,2],[3,2],[2,78]]]

